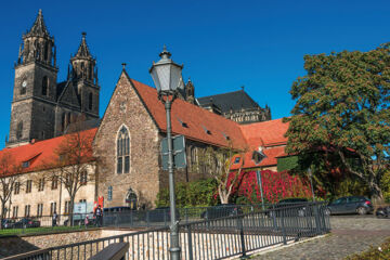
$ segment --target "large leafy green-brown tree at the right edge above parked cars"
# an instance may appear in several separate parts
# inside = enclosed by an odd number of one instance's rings
[[[390,143],[389,43],[368,52],[306,55],[304,69],[307,76],[290,91],[297,103],[286,119],[286,152],[337,155],[373,198],[382,199],[379,184]]]

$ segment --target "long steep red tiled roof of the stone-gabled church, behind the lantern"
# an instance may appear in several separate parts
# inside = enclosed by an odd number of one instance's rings
[[[166,131],[166,110],[164,104],[158,100],[157,90],[136,80],[130,80],[158,128]],[[246,145],[238,123],[180,99],[172,104],[171,121],[174,134],[183,134],[195,141],[224,147],[230,145],[230,141],[225,139],[229,136],[233,147],[244,148]],[[181,122],[187,127],[183,127]],[[207,133],[207,130],[210,134]]]

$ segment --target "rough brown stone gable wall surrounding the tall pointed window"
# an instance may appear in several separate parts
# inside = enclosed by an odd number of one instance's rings
[[[122,126],[130,135],[130,171],[118,174],[116,140]],[[126,205],[130,188],[136,194],[139,204],[152,206],[161,182],[161,174],[158,174],[159,142],[156,123],[123,72],[94,141],[95,156],[102,158],[99,167],[99,195],[106,197],[108,186],[114,187],[113,200],[106,200],[106,207]]]

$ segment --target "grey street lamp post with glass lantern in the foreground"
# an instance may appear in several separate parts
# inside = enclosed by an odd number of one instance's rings
[[[156,86],[158,92],[158,99],[165,105],[167,114],[167,140],[168,140],[168,172],[169,172],[169,202],[170,202],[170,214],[171,214],[171,224],[170,224],[170,259],[179,260],[180,259],[180,245],[179,245],[179,221],[177,220],[176,211],[176,199],[174,199],[174,179],[173,179],[173,153],[172,153],[172,136],[171,136],[171,118],[170,110],[171,105],[177,98],[178,88],[182,88],[183,79],[181,70],[183,65],[178,65],[173,63],[170,58],[171,54],[167,51],[167,48],[164,46],[162,52],[159,54],[161,60],[157,63],[153,62],[153,65],[150,69],[153,81]]]

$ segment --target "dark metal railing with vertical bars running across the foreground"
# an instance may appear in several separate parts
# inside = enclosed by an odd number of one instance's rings
[[[180,224],[182,259],[223,259],[329,232],[325,204],[310,203]],[[169,259],[169,230],[153,229],[49,248],[50,259],[89,259],[128,243],[126,259]],[[16,259],[16,258],[9,258]],[[17,258],[21,259],[21,258]]]

